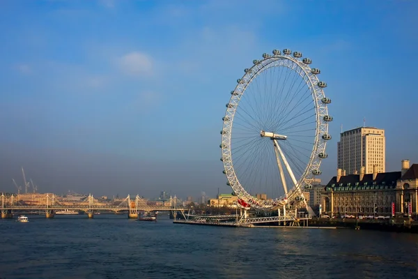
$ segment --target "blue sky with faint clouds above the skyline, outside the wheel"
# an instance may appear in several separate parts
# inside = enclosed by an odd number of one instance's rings
[[[321,69],[336,172],[343,129],[385,128],[418,163],[416,1],[1,1],[0,187],[229,193],[220,135],[236,80],[290,48]]]

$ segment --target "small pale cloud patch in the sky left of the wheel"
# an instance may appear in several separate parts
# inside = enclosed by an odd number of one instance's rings
[[[127,75],[153,75],[153,59],[142,52],[130,52],[118,59],[118,66]]]

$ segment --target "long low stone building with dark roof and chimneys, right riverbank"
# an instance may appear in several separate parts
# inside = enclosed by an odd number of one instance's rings
[[[323,212],[330,216],[364,215],[391,216],[392,203],[396,216],[418,213],[418,164],[409,165],[402,161],[401,172],[378,172],[374,167],[372,174],[337,175],[332,177],[322,194]]]

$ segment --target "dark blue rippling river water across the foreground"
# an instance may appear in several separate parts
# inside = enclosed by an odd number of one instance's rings
[[[418,278],[418,235],[126,216],[0,220],[0,278]]]

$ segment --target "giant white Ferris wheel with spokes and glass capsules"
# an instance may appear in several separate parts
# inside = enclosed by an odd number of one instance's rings
[[[227,184],[256,209],[304,202],[321,174],[331,135],[320,70],[300,52],[273,50],[254,60],[231,91],[221,130]]]

